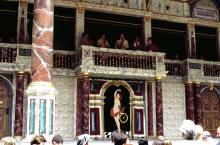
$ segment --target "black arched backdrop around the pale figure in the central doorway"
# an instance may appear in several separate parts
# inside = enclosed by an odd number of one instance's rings
[[[114,117],[111,116],[111,109],[114,107],[114,94],[117,90],[120,90],[121,92],[121,106],[124,107],[124,113],[127,115],[127,119],[123,118],[122,121],[120,121],[120,128],[122,131],[128,132],[130,131],[130,93],[127,90],[127,88],[123,85],[115,86],[111,85],[109,86],[105,93],[105,99],[104,99],[104,131],[105,132],[112,132],[114,130],[117,130],[117,125]],[[123,120],[125,119],[125,120]]]

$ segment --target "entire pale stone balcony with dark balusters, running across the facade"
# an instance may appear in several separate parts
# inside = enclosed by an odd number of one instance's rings
[[[53,74],[149,80],[156,77],[183,81],[217,82],[220,62],[198,59],[169,60],[164,53],[81,46],[77,51],[54,50]],[[31,45],[0,43],[0,71],[30,72]]]

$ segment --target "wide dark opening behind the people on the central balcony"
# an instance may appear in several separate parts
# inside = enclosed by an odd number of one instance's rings
[[[136,36],[140,38],[142,43],[144,42],[142,18],[138,17],[86,11],[85,32],[89,34],[93,42],[92,45],[96,47],[99,46],[97,40],[102,34],[105,35],[109,48],[115,48],[120,34],[124,34],[128,41],[126,50],[132,50],[132,42]]]

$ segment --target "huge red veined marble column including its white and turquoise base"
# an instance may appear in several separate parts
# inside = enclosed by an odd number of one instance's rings
[[[53,136],[56,90],[51,80],[53,1],[34,0],[31,83],[27,88],[27,137]]]

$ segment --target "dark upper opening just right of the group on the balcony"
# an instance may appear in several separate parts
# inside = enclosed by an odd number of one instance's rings
[[[152,20],[152,39],[168,59],[186,58],[187,30],[181,23]]]

